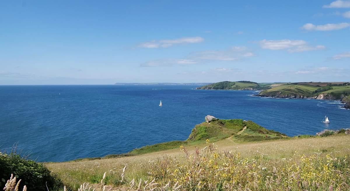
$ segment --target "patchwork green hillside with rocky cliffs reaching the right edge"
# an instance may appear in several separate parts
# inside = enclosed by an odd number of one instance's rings
[[[261,97],[341,99],[350,94],[349,83],[292,83],[260,92]]]

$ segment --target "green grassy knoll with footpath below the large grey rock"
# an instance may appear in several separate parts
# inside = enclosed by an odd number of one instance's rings
[[[205,143],[207,139],[211,142],[230,139],[237,143],[252,141],[268,141],[286,139],[287,135],[273,130],[267,130],[252,121],[242,119],[217,120],[210,123],[203,122],[192,129],[186,141],[170,141],[151,146],[134,149],[127,154],[146,154],[155,151],[175,149],[179,146],[194,146]]]

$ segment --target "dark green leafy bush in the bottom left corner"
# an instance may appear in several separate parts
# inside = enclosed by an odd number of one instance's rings
[[[8,155],[0,153],[0,188],[5,186],[11,174],[22,179],[20,188],[26,185],[28,191],[47,191],[46,185],[54,191],[64,186],[43,164],[21,157],[15,150]]]

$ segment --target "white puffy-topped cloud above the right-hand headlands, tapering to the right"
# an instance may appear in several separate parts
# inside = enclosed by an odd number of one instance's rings
[[[304,52],[310,50],[322,50],[325,47],[323,45],[317,45],[315,47],[309,46],[307,42],[303,40],[262,40],[259,41],[262,49],[269,50],[287,50],[288,52]]]

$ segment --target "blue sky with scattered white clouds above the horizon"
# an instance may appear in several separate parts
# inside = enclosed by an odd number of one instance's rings
[[[350,81],[350,1],[1,1],[0,85]]]

